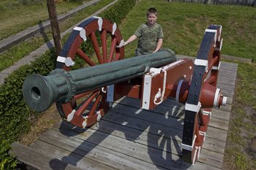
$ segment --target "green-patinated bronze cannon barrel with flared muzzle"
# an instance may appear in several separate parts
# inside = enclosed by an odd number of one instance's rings
[[[23,96],[32,109],[42,112],[55,101],[70,101],[77,94],[139,77],[151,67],[173,61],[176,61],[176,56],[172,51],[161,50],[70,72],[55,69],[48,76],[31,74],[23,82]]]

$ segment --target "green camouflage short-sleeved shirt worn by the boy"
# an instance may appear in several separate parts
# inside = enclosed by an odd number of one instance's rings
[[[135,31],[135,36],[138,37],[138,52],[141,54],[152,53],[157,47],[158,39],[162,39],[164,34],[162,27],[155,23],[154,26],[148,26],[143,23]]]

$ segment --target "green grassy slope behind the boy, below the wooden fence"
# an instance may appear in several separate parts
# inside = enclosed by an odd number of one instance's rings
[[[148,7],[158,9],[157,22],[162,25],[165,34],[163,46],[178,54],[195,56],[205,29],[210,24],[219,24],[223,26],[222,53],[256,59],[256,8],[140,1],[121,25],[124,39],[134,34],[141,23],[146,22]],[[130,51],[135,47],[134,44],[127,49]]]

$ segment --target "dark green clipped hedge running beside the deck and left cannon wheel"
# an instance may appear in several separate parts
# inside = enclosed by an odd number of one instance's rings
[[[121,0],[118,1],[117,4],[119,2],[126,5],[124,4],[125,2],[127,5],[129,4],[129,6],[131,6],[131,1]],[[135,3],[133,5],[135,5]],[[118,7],[118,5],[110,7],[110,9],[107,10],[108,15],[106,16],[115,16],[110,14],[110,12],[115,12],[115,10],[111,9],[115,7]],[[124,14],[121,12],[121,16],[123,16],[122,18],[127,15],[127,12],[129,11],[124,10]],[[102,15],[104,15],[104,12]],[[113,19],[116,20],[117,23],[120,23],[122,18],[118,17]],[[91,45],[83,45],[82,48],[83,50],[86,50],[87,53],[92,53]],[[76,65],[81,66],[81,64],[83,64],[81,62],[82,61],[76,60]],[[3,169],[13,169],[15,166],[16,161],[8,155],[10,144],[16,141],[20,134],[29,131],[32,121],[36,120],[39,114],[31,111],[23,100],[22,85],[25,77],[33,73],[48,75],[55,66],[56,54],[54,53],[54,50],[51,50],[31,64],[20,67],[20,69],[13,72],[10,77],[5,80],[4,85],[0,86],[0,126],[4,127],[0,132],[0,151],[2,155],[0,157],[0,165]]]

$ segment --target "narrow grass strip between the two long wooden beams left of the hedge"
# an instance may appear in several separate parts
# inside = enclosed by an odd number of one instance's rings
[[[81,10],[77,14],[73,15],[71,18],[68,18],[67,20],[64,20],[63,22],[59,23],[60,31],[65,31],[67,30],[67,28],[74,26],[75,23],[78,23],[80,20],[83,20],[84,18],[88,17],[89,15],[101,9],[102,7],[105,7],[112,1],[113,0],[101,1],[98,4]],[[33,50],[36,50],[45,42],[48,42],[49,39],[52,39],[50,29],[45,30],[43,34],[43,36],[35,36],[27,40],[26,42],[22,42],[19,45],[10,48],[10,50],[7,50],[4,53],[0,53],[0,72],[9,66],[12,66],[13,63],[20,60],[20,58],[23,58],[24,56],[28,55]]]

